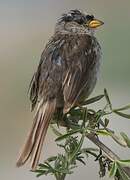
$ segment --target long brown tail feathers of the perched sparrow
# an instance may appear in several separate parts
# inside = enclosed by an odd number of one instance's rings
[[[39,102],[31,131],[28,134],[27,140],[17,160],[17,167],[24,165],[28,159],[31,159],[31,169],[36,169],[47,129],[55,108],[56,99],[45,103],[42,101]]]

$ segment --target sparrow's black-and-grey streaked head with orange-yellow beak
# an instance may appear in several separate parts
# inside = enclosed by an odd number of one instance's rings
[[[56,32],[91,34],[104,23],[93,15],[86,14],[80,10],[71,10],[58,20]]]

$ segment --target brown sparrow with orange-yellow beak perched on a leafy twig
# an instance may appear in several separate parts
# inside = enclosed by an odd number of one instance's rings
[[[45,46],[29,86],[34,120],[17,159],[37,169],[47,129],[58,109],[63,114],[92,93],[100,71],[102,51],[95,30],[104,22],[82,10],[61,15]]]

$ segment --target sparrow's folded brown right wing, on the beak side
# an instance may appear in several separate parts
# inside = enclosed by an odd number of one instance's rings
[[[84,88],[89,86],[89,74],[97,59],[94,52],[95,38],[80,35],[69,38],[66,45],[68,69],[63,81],[64,113],[75,105]],[[67,53],[66,52],[66,53]]]

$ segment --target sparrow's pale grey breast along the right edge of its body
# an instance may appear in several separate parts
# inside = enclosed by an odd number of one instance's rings
[[[96,39],[92,40],[91,48],[85,51],[86,56],[86,83],[80,95],[80,101],[86,99],[93,91],[100,72],[101,48]]]

